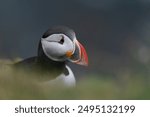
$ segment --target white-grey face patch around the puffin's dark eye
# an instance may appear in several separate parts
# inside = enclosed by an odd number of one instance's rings
[[[64,61],[68,51],[75,51],[74,42],[64,34],[52,34],[42,38],[41,44],[45,55],[54,61]]]

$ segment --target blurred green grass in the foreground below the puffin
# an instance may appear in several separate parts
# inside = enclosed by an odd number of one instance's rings
[[[36,75],[15,72],[0,61],[0,99],[150,99],[150,83],[132,74],[120,81],[111,76],[84,76],[74,88],[42,85]],[[34,77],[34,78],[33,78]]]

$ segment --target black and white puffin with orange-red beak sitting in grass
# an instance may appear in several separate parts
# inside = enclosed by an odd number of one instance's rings
[[[71,28],[55,26],[41,37],[37,56],[19,61],[14,66],[28,72],[50,75],[43,80],[45,84],[75,86],[76,79],[68,62],[88,66],[87,52]]]

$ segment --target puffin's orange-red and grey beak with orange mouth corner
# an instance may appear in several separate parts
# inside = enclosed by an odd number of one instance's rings
[[[75,45],[75,50],[68,51],[66,53],[66,56],[73,63],[88,66],[88,56],[87,56],[85,48],[76,39],[74,40],[74,45]]]

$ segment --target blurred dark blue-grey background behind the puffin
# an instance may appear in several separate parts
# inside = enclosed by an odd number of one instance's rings
[[[0,58],[36,55],[55,25],[73,28],[88,52],[89,67],[70,64],[77,78],[150,80],[150,0],[0,0]]]

